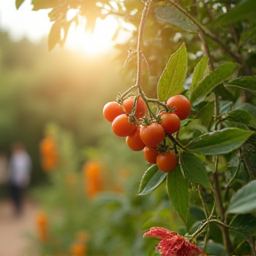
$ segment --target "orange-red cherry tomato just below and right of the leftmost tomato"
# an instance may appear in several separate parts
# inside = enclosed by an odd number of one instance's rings
[[[129,118],[126,114],[116,116],[112,123],[112,131],[119,137],[130,135],[135,127],[134,124],[129,122]]]

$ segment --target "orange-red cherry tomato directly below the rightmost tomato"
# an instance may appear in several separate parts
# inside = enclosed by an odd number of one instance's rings
[[[176,114],[166,113],[162,115],[161,125],[168,134],[178,132],[180,130],[180,118]]]

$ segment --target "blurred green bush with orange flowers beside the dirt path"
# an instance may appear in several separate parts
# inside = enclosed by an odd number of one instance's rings
[[[38,234],[30,237],[40,255],[151,254],[156,244],[138,239],[143,229],[156,224],[179,229],[182,223],[164,186],[148,197],[137,196],[147,168],[141,154],[112,138],[79,151],[70,132],[51,127],[59,161],[47,171],[49,183],[31,191],[42,209]],[[116,147],[108,150],[109,143]]]

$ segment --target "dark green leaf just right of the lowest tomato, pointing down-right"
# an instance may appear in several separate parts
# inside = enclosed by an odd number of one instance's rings
[[[204,163],[195,154],[183,152],[180,156],[180,164],[188,180],[200,184],[204,188],[211,188]]]

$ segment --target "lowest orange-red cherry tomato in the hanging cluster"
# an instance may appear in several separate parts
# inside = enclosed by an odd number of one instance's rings
[[[160,153],[156,156],[156,164],[162,172],[172,172],[178,164],[178,157],[172,150],[169,150],[167,153]]]

